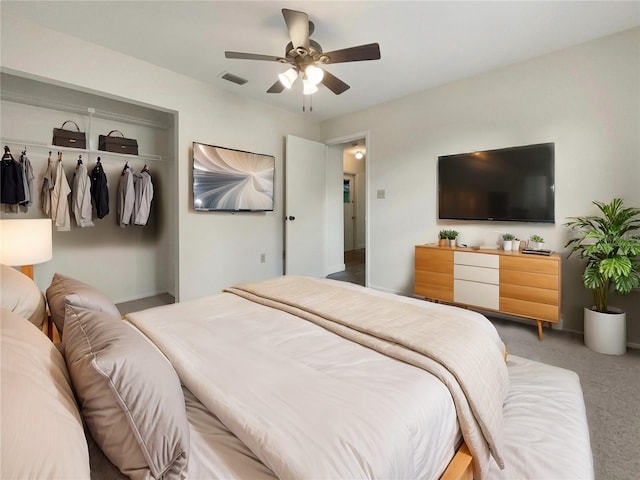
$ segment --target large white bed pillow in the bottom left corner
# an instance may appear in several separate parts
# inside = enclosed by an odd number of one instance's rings
[[[89,479],[89,452],[62,355],[33,324],[0,310],[0,478]]]

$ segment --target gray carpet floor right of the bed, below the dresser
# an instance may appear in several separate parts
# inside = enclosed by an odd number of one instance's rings
[[[509,353],[573,370],[580,376],[597,480],[640,479],[640,350],[604,355],[582,335],[490,318]]]

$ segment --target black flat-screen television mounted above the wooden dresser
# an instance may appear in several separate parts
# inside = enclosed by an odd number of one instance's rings
[[[438,157],[438,217],[554,223],[553,143]]]

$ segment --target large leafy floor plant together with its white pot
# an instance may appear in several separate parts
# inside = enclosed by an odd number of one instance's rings
[[[609,306],[609,294],[626,295],[640,286],[640,208],[624,207],[623,200],[593,202],[599,215],[569,217],[565,226],[578,236],[565,247],[587,261],[582,274],[584,286],[593,293],[593,306],[585,308],[584,341],[591,350],[626,352],[626,314]]]

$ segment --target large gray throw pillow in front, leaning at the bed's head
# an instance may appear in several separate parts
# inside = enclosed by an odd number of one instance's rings
[[[126,321],[68,302],[63,346],[80,410],[109,460],[133,479],[179,478],[189,424],[169,361]]]

